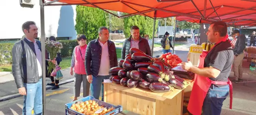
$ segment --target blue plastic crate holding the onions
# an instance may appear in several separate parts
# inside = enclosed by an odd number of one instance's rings
[[[87,96],[87,97],[83,97],[82,99],[65,104],[66,115],[84,115],[83,113],[80,113],[78,111],[70,109],[70,107],[72,106],[72,104],[75,104],[78,102],[84,102],[84,101],[88,101],[88,100],[95,100],[96,102],[98,102],[99,106],[107,107],[107,109],[110,107],[115,108],[113,111],[110,111],[110,112],[106,113],[105,115],[110,115],[110,114],[116,115],[117,113],[120,113],[122,111],[122,106],[114,106],[114,105],[106,103],[104,101],[95,99],[93,96]]]

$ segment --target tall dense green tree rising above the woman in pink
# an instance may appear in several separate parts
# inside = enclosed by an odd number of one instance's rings
[[[102,26],[106,26],[104,11],[94,7],[76,6],[75,29],[77,34],[85,34],[87,43],[98,38],[98,29]]]

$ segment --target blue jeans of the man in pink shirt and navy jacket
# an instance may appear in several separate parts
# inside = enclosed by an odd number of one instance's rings
[[[104,85],[102,84],[102,82],[104,81],[104,79],[109,79],[109,77],[110,75],[98,75],[97,77],[93,76],[93,82],[91,83],[90,91],[91,95],[93,95],[95,99],[99,99],[101,89],[101,101],[104,101]]]

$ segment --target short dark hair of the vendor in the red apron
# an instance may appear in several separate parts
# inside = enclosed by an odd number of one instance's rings
[[[210,25],[212,25],[213,32],[219,32],[219,36],[223,37],[226,36],[228,32],[227,24],[223,21],[216,21],[212,22]]]

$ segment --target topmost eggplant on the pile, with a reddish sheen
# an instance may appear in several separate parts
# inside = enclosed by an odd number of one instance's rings
[[[132,54],[132,59],[134,59],[137,62],[148,62],[148,61],[151,61],[151,59],[153,58],[148,56],[147,54],[135,52]]]

